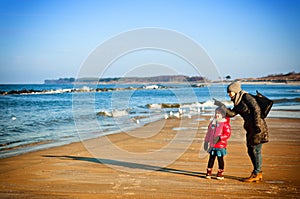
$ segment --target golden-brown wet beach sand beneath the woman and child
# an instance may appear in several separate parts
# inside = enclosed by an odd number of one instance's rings
[[[299,198],[299,119],[267,118],[270,142],[263,145],[263,182],[260,183],[240,181],[252,171],[240,117],[231,121],[225,179],[205,179],[208,156],[203,157],[201,149],[208,122],[209,117],[204,116],[168,119],[130,134],[107,136],[125,151],[146,154],[137,161],[94,157],[83,143],[1,159],[0,198]],[[151,130],[158,126],[159,133],[151,135]],[[147,153],[168,146],[181,134],[184,136],[180,142],[168,151],[170,156],[177,153],[189,142],[184,137],[192,135],[191,130],[195,129],[198,130],[192,144],[172,164],[160,168],[161,162],[149,159]],[[147,133],[149,136],[145,138],[132,136]],[[101,139],[85,144],[90,149],[111,153],[110,146],[101,145]],[[214,174],[217,166],[216,161]]]

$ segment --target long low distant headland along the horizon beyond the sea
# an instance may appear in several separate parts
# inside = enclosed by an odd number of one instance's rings
[[[258,78],[238,78],[241,82],[248,83],[300,83],[300,73],[289,72],[286,74],[272,74],[265,77]],[[130,83],[222,83],[233,81],[230,75],[224,77],[219,81],[211,81],[201,76],[185,76],[185,75],[163,75],[154,77],[114,77],[114,78],[59,78],[59,79],[47,79],[44,84],[130,84]]]

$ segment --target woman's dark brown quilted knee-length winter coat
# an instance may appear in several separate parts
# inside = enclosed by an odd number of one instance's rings
[[[241,101],[233,109],[225,108],[225,110],[228,117],[234,117],[239,114],[244,119],[248,146],[269,141],[266,121],[261,118],[260,107],[253,96],[244,93]]]

